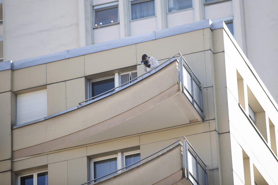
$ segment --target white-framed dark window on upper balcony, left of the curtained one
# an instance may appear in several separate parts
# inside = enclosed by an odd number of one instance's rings
[[[94,97],[115,87],[114,75],[89,81],[89,95]],[[107,92],[106,94],[108,94]]]

